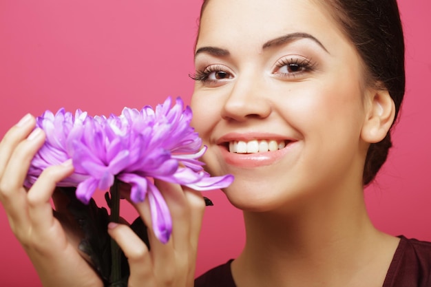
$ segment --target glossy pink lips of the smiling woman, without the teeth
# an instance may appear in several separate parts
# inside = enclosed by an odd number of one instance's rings
[[[231,153],[229,152],[227,145],[233,140],[285,140],[287,141],[287,145],[283,149],[277,149],[277,151],[266,151],[263,153]],[[230,133],[219,138],[216,143],[218,147],[220,147],[221,155],[227,164],[231,164],[235,167],[253,168],[262,167],[277,162],[283,158],[293,146],[295,146],[296,142],[296,139],[281,136],[280,134]]]

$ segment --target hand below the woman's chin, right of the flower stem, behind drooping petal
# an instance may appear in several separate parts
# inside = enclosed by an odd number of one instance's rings
[[[125,224],[108,225],[108,233],[125,253],[130,267],[128,287],[193,286],[198,237],[205,203],[197,191],[178,184],[156,182],[172,216],[172,234],[167,244],[158,241],[151,228],[148,200],[134,204],[148,226],[151,251]]]

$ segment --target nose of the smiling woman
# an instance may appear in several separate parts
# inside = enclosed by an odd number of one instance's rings
[[[221,116],[225,120],[242,122],[249,118],[266,118],[271,110],[262,78],[237,78],[224,101]]]

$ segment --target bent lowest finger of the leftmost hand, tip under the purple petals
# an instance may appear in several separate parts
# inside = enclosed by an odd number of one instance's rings
[[[48,167],[28,191],[28,215],[35,230],[45,230],[52,226],[54,216],[50,198],[56,183],[70,176],[74,171],[72,160]]]

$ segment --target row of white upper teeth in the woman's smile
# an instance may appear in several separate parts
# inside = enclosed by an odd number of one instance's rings
[[[231,153],[262,153],[267,151],[276,151],[286,147],[284,140],[277,142],[277,140],[238,140],[229,142],[229,151]]]

